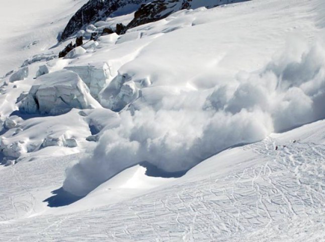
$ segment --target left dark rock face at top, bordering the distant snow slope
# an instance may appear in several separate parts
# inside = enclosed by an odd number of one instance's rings
[[[135,11],[139,5],[148,0],[90,0],[79,9],[70,19],[61,35],[61,40],[67,39],[73,33],[82,29],[85,25],[95,23],[103,18],[113,16],[121,10],[123,14]],[[126,7],[128,6],[128,7]],[[122,10],[123,9],[123,10]]]

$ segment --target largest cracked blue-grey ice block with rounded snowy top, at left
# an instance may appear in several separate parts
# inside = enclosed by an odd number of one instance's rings
[[[20,109],[27,113],[57,115],[71,108],[93,108],[100,104],[91,96],[80,77],[63,70],[36,79]]]

